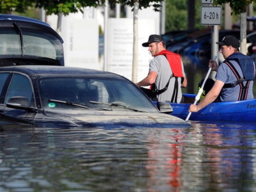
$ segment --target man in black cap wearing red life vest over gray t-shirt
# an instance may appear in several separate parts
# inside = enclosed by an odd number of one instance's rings
[[[148,41],[142,43],[148,47],[154,57],[149,63],[149,73],[137,86],[151,86],[157,93],[158,101],[180,103],[182,99],[181,86],[187,86],[181,57],[166,50],[164,39],[160,35],[150,35]]]

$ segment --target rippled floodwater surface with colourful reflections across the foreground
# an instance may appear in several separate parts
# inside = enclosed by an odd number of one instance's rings
[[[256,191],[256,125],[1,126],[0,191]]]

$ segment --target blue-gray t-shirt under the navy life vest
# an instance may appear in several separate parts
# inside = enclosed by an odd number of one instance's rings
[[[239,64],[231,60],[230,61],[236,70],[238,71],[239,75],[243,77],[243,73],[241,70],[241,67]],[[255,71],[254,71],[255,72]],[[237,81],[237,78],[235,77],[235,74],[231,71],[229,66],[226,63],[222,63],[216,73],[215,79],[218,79],[224,83],[234,83]],[[243,82],[244,85],[246,81]],[[250,81],[249,89],[248,89],[248,95],[247,95],[247,100],[248,99],[253,99],[253,81]],[[239,97],[239,92],[240,92],[240,86],[237,85],[234,88],[223,88],[220,92],[220,101],[225,102],[225,101],[237,101]]]

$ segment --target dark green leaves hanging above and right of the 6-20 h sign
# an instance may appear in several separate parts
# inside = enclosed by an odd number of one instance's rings
[[[247,6],[252,2],[253,0],[213,0],[213,5],[229,3],[232,10],[231,14],[239,15],[246,12]]]

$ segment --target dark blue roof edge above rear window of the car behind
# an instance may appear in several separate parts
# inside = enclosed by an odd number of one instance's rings
[[[61,36],[48,23],[24,16],[0,14],[0,27],[12,27],[14,22],[18,23],[21,28],[32,28],[50,33],[63,43]]]

